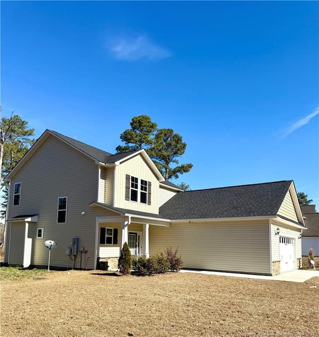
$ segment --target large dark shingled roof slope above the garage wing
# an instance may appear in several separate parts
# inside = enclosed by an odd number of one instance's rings
[[[275,216],[292,180],[177,193],[160,207],[165,219]]]

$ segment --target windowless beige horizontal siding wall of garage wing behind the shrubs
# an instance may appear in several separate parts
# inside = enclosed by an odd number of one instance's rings
[[[151,225],[150,253],[167,246],[178,246],[186,268],[271,273],[268,222]]]

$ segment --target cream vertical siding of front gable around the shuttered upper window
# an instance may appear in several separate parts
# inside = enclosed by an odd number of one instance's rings
[[[151,188],[151,205],[141,204],[133,201],[125,200],[125,177],[126,174],[150,181],[152,183]],[[120,166],[116,167],[116,193],[114,207],[136,210],[141,212],[148,212],[159,214],[159,181],[153,174],[149,165],[144,161],[142,156],[136,155],[133,158],[123,162]]]

